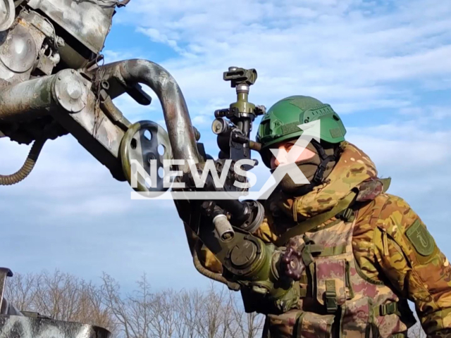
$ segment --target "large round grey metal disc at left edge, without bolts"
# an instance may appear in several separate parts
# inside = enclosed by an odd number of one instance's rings
[[[1,62],[14,73],[25,73],[35,63],[37,57],[35,39],[23,25],[18,24],[8,32],[0,48]]]

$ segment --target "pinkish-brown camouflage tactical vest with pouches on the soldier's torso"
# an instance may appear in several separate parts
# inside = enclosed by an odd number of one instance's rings
[[[415,323],[407,300],[359,270],[352,250],[357,217],[348,216],[299,236],[313,258],[299,283],[302,310],[268,315],[263,337],[407,337]]]

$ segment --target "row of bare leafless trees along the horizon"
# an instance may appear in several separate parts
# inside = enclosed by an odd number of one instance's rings
[[[59,270],[16,274],[6,298],[22,311],[99,325],[118,338],[254,338],[263,323],[226,287],[154,292],[146,275],[124,293],[106,274],[100,286]]]

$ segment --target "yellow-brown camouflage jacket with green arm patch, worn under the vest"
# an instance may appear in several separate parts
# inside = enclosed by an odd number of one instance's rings
[[[382,292],[385,294],[382,301],[409,299],[415,303],[421,325],[428,336],[433,337],[440,332],[450,333],[447,331],[451,329],[449,261],[435,245],[419,216],[404,200],[385,194],[381,189],[377,189],[377,184],[371,184],[378,182],[378,179],[375,165],[368,156],[347,142],[342,144],[342,148],[340,161],[324,184],[315,187],[304,196],[293,198],[279,192],[268,199],[266,220],[257,230],[257,237],[265,242],[277,242],[280,235],[290,227],[329,211],[352,190],[359,191],[357,202],[353,206],[355,218],[352,227],[346,228],[342,225],[342,230],[332,231],[335,228],[331,228],[330,225],[336,223],[333,218],[317,227],[312,236],[315,232],[318,235],[321,230],[326,230],[323,233],[329,230],[329,236],[321,235],[321,240],[326,246],[328,244],[332,246],[340,242],[340,236],[345,236],[346,229],[350,229],[352,266],[359,272],[356,276],[361,277],[360,280],[363,281],[356,282],[354,292],[360,296],[373,298],[377,298],[379,296],[377,293]],[[349,260],[349,257],[347,259]],[[208,251],[204,252],[204,262],[210,270],[221,270],[221,266]],[[309,289],[307,284],[306,287]],[[371,289],[371,285],[380,287]],[[317,284],[315,288],[319,289],[319,285]],[[305,301],[304,305],[301,303],[300,306],[305,308]],[[310,319],[307,318],[307,322]],[[269,315],[267,323],[272,326],[269,327],[271,337],[292,337],[296,320],[299,320],[299,311],[284,315]],[[390,324],[388,320],[385,322],[381,319],[378,323],[382,326],[381,332],[384,332],[383,325]],[[393,322],[390,325],[395,326],[388,328],[386,332],[407,330],[407,326],[403,323]],[[311,334],[304,333],[299,337],[309,335],[329,337],[323,334],[321,325],[316,329],[314,327]],[[367,334],[345,334],[345,336],[366,337]],[[390,337],[390,334],[381,334],[381,337]]]

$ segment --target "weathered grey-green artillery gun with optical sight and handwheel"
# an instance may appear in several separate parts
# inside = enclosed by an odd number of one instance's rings
[[[161,168],[165,160],[175,159],[194,163],[202,171],[206,161],[212,160],[192,126],[182,91],[167,70],[146,60],[100,65],[116,8],[129,1],[0,0],[0,137],[32,144],[23,167],[12,175],[0,175],[0,185],[24,180],[45,142],[65,134],[72,134],[116,180],[135,182],[132,187],[147,194],[166,192],[167,177],[156,175],[149,184],[149,177],[140,175],[133,164],[150,173],[152,165]],[[259,144],[252,142],[250,132],[254,119],[264,114],[264,107],[248,101],[257,71],[231,67],[224,73],[224,80],[236,89],[237,101],[215,112],[212,130],[221,149],[214,168],[218,174],[227,170],[226,184],[216,187],[209,173],[206,184],[199,188],[190,165],[177,164],[173,167],[182,175],[169,180],[184,182],[185,188],[173,188],[173,193],[247,192],[246,187],[234,184],[247,182],[245,175],[233,173],[224,163],[248,160],[245,171],[257,165],[251,150],[259,151]],[[113,99],[128,94],[139,104],[151,104],[141,84],[158,96],[166,130],[150,120],[131,123],[113,103]],[[259,301],[268,301],[278,310],[295,301],[292,285],[299,275],[298,257],[252,236],[264,215],[258,201],[241,201],[239,196],[178,199],[175,206],[200,273],[230,289],[242,289],[243,296],[257,295]],[[223,274],[211,273],[202,266],[197,258],[199,246],[206,246],[223,263]],[[68,338],[108,336],[106,330],[91,325],[24,316],[3,299],[11,271],[1,270],[0,275],[1,337],[50,337],[46,332]]]

